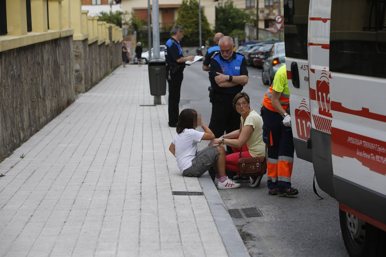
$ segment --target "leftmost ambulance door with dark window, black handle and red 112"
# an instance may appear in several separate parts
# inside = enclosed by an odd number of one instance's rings
[[[311,129],[307,53],[309,3],[310,0],[284,0],[284,41],[296,156],[312,162],[311,151],[307,148]]]

